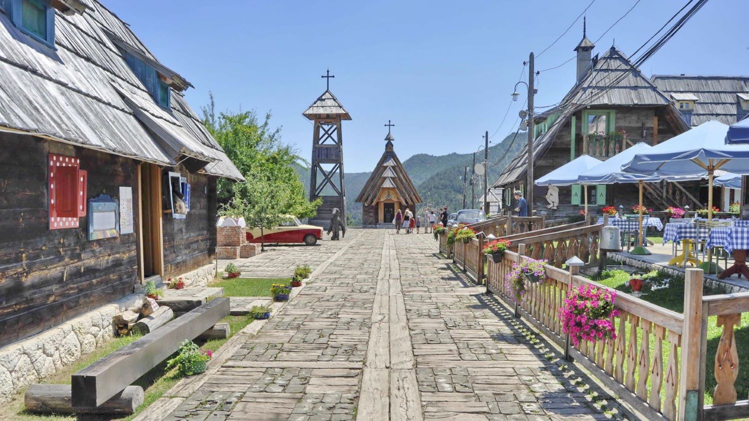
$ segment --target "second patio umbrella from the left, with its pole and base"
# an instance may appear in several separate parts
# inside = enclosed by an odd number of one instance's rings
[[[629,163],[636,154],[649,151],[652,147],[645,143],[627,148],[619,154],[610,157],[598,166],[583,172],[577,177],[579,183],[588,184],[618,184],[637,183],[640,187],[640,226],[638,230],[637,247],[630,252],[633,255],[649,255],[648,249],[643,247],[643,184],[647,182],[661,181],[663,178],[657,175],[642,175],[622,172],[622,166]]]

